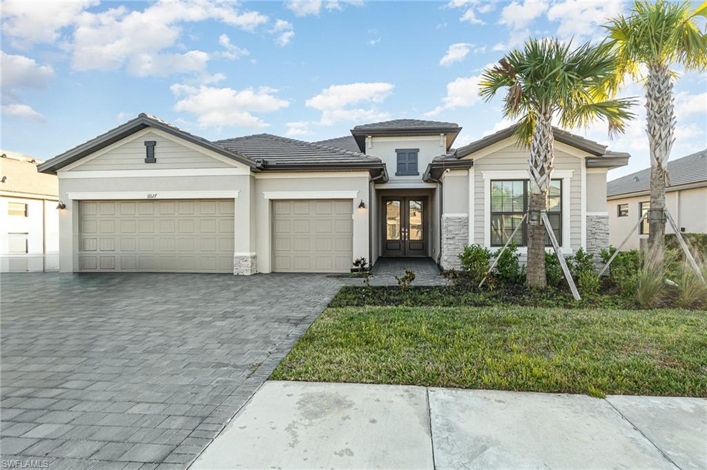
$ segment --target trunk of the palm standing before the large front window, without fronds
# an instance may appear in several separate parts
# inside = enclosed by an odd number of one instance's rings
[[[528,287],[546,287],[545,227],[540,211],[547,209],[553,158],[552,114],[539,114],[530,144],[530,195],[528,197],[527,274]]]

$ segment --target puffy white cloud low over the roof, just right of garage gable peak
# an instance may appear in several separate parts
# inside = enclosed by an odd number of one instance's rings
[[[175,83],[170,88],[178,101],[175,111],[197,116],[202,127],[244,126],[262,128],[269,124],[252,113],[274,112],[289,106],[289,102],[276,96],[277,90],[268,87],[214,88],[194,87]]]

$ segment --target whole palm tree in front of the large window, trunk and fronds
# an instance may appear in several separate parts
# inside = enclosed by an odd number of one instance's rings
[[[597,119],[609,124],[609,135],[624,131],[633,117],[633,100],[616,100],[609,86],[614,63],[603,45],[576,49],[555,39],[528,40],[481,76],[480,94],[489,101],[507,89],[503,114],[519,119],[519,143],[530,145],[530,197],[527,225],[529,287],[545,287],[545,229],[553,163],[552,120],[566,128],[587,127]]]

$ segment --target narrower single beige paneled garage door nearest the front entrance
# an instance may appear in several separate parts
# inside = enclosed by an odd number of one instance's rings
[[[349,272],[351,200],[273,200],[273,270]]]

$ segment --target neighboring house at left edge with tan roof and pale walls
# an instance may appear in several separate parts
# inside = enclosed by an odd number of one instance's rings
[[[0,153],[0,271],[59,270],[57,177],[38,173],[33,157]]]

